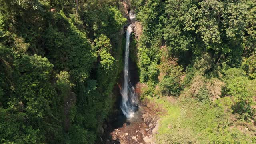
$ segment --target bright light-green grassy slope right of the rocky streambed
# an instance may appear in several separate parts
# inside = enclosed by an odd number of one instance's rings
[[[232,100],[224,97],[212,103],[192,98],[169,102],[148,98],[164,108],[156,135],[159,144],[251,144],[256,137],[241,132],[232,121]]]

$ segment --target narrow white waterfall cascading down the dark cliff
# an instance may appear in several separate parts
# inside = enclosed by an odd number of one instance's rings
[[[131,20],[134,20],[135,14],[129,12]],[[124,84],[121,90],[122,104],[121,110],[127,118],[134,117],[134,112],[138,108],[137,96],[134,92],[134,87],[131,85],[129,77],[129,45],[130,34],[132,33],[131,25],[128,26],[126,31],[126,46],[125,46],[125,59],[124,59]]]

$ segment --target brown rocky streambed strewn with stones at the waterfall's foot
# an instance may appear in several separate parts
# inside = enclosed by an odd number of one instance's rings
[[[140,92],[136,87],[136,92]],[[105,125],[104,144],[155,144],[160,119],[152,104],[144,100],[133,118],[120,114]]]

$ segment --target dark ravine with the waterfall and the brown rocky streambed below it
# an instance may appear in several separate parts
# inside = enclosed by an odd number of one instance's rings
[[[130,40],[134,40],[132,32],[136,32],[135,14],[133,10],[129,12],[129,23],[126,26],[126,45],[124,50],[124,70],[120,77],[118,86],[114,88],[114,94],[117,98],[112,114],[103,124],[104,135],[102,142],[104,144],[151,144],[144,142],[152,133],[156,126],[157,118],[153,118],[152,110],[138,100],[140,97],[140,87],[143,84],[138,83],[138,69],[136,62],[129,56],[134,54],[134,46],[130,46]],[[141,26],[140,26],[141,28]],[[138,28],[137,28],[138,30]],[[135,36],[135,38],[138,38]],[[132,51],[130,51],[132,49]],[[151,114],[150,114],[151,113]],[[146,140],[148,141],[148,140]]]

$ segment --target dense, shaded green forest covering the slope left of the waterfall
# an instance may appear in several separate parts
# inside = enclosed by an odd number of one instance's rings
[[[112,108],[118,0],[0,0],[0,143],[92,144]]]

